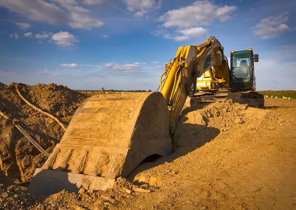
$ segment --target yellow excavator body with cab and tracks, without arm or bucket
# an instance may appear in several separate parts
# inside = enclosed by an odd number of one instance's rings
[[[231,50],[230,55],[228,71],[222,71],[213,66],[197,79],[196,90],[202,93],[197,93],[191,98],[191,106],[231,98],[233,102],[248,104],[252,107],[264,107],[264,96],[255,91],[254,62],[259,61],[258,54],[254,55],[253,49],[248,48],[237,52]],[[224,61],[227,59],[225,58]]]

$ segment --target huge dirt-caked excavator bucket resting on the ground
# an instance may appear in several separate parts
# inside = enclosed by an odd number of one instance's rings
[[[28,190],[35,195],[105,190],[146,157],[171,151],[168,108],[160,92],[98,94],[77,109]]]

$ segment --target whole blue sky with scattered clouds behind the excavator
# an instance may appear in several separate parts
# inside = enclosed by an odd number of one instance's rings
[[[0,0],[0,82],[156,90],[179,46],[252,47],[257,90],[296,90],[295,0]]]

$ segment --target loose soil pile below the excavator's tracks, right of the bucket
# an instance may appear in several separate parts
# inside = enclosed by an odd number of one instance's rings
[[[189,152],[192,146],[193,149],[200,147],[231,128],[242,131],[248,126],[253,126],[255,130],[260,126],[273,130],[283,125],[283,121],[269,110],[250,108],[232,103],[231,100],[199,105],[183,111],[174,134],[173,146],[176,152],[178,148],[186,148],[183,152]]]

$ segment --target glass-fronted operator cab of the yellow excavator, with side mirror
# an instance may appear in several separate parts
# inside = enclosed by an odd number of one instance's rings
[[[231,87],[234,89],[256,90],[254,62],[259,61],[258,54],[253,54],[253,49],[230,51]]]

